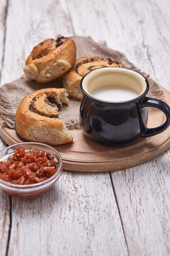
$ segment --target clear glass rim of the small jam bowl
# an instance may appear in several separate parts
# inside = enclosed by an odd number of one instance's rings
[[[49,145],[43,144],[43,143],[39,143],[39,142],[20,142],[20,143],[12,144],[10,146],[7,146],[7,147],[3,148],[2,150],[0,150],[0,153],[2,151],[4,151],[4,150],[7,150],[8,148],[13,147],[13,146],[19,146],[19,145],[23,145],[23,144],[28,144],[28,145],[29,144],[35,144],[35,145],[39,145],[39,146],[45,146],[47,148],[50,148],[51,150],[54,150],[55,153],[57,154],[58,158],[59,158],[59,161],[58,161],[59,162],[59,167],[58,167],[56,173],[54,173],[53,176],[51,176],[47,180],[44,180],[44,181],[38,182],[38,183],[34,183],[34,184],[23,184],[23,185],[21,185],[21,184],[13,184],[11,182],[6,182],[6,181],[4,181],[2,179],[0,179],[0,184],[2,184],[3,186],[7,186],[8,188],[11,187],[13,189],[29,189],[29,188],[33,189],[33,188],[37,188],[39,186],[46,185],[46,184],[52,182],[55,178],[57,178],[57,177],[59,178],[60,177],[60,175],[62,173],[62,157],[61,157],[60,153],[55,148],[53,148],[52,146],[49,146]]]

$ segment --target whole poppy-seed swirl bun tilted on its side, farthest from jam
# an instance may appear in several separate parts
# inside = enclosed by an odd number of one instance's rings
[[[24,73],[31,80],[47,83],[71,69],[75,58],[76,46],[72,39],[46,39],[33,48],[26,59]]]

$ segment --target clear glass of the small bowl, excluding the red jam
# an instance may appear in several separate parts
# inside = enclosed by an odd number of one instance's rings
[[[23,142],[8,146],[0,151],[0,161],[7,162],[9,157],[11,157],[16,148],[24,148],[25,151],[29,151],[31,149],[38,149],[40,151],[44,151],[45,153],[50,153],[54,159],[58,162],[59,166],[57,171],[49,177],[47,180],[44,180],[35,184],[12,184],[10,182],[6,182],[0,179],[0,188],[4,190],[11,196],[15,196],[18,198],[29,199],[36,198],[40,195],[45,194],[49,191],[55,184],[55,182],[59,179],[62,173],[62,158],[60,154],[46,144],[36,143],[36,142]]]

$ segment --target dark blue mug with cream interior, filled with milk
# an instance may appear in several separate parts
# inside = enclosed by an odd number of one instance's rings
[[[123,67],[103,67],[85,74],[80,82],[83,96],[80,124],[84,134],[102,144],[127,144],[150,137],[170,126],[170,107],[159,99],[146,97],[147,79]],[[148,106],[159,108],[166,121],[147,128]]]

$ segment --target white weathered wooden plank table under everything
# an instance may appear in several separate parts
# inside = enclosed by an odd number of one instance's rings
[[[106,41],[170,92],[170,0],[1,0],[0,84],[22,76],[32,48],[59,34]],[[34,200],[0,190],[0,255],[170,255],[169,159],[167,150],[120,171],[63,171]]]

